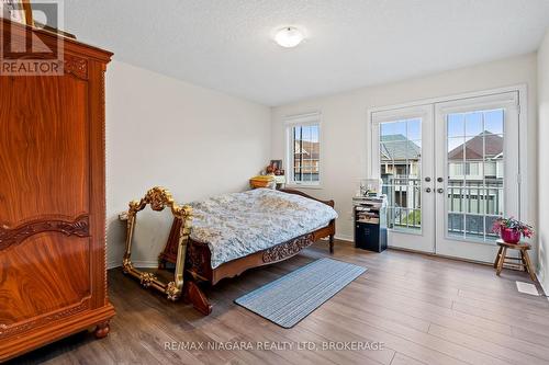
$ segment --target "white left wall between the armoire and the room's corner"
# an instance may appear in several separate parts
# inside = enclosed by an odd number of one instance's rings
[[[270,155],[270,110],[127,64],[107,71],[108,264],[120,265],[117,214],[155,185],[177,202],[242,191]],[[141,219],[141,220],[139,220]],[[155,263],[168,216],[138,216],[133,259]]]

